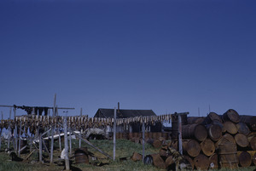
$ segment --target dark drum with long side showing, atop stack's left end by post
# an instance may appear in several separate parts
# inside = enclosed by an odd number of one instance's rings
[[[182,134],[184,140],[195,138],[203,141],[207,139],[207,128],[201,124],[184,125]]]

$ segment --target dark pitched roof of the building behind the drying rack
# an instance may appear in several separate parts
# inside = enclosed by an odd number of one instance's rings
[[[117,109],[117,118],[128,118],[128,117],[148,117],[156,116],[152,110],[130,110],[130,109]],[[96,112],[94,117],[113,118],[113,109],[100,108]]]

